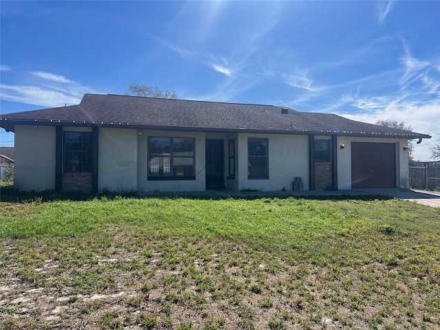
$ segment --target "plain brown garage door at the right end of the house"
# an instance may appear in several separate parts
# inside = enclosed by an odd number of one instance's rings
[[[396,186],[394,143],[351,142],[351,187]]]

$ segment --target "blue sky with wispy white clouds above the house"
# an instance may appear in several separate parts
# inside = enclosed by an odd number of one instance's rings
[[[440,1],[1,1],[1,113],[124,94],[404,121],[440,143]],[[13,145],[0,132],[0,144]]]

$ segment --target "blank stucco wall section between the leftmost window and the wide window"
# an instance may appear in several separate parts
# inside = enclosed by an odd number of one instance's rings
[[[98,190],[137,190],[137,130],[101,128],[98,133]]]

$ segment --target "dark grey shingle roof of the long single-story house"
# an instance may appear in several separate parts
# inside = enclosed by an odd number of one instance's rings
[[[299,112],[272,105],[101,94],[85,94],[80,104],[74,106],[1,115],[1,127],[13,131],[14,124],[430,138],[339,115]]]

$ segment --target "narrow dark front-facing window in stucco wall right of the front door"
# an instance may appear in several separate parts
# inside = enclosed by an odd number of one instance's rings
[[[268,179],[268,140],[248,138],[248,179]]]

